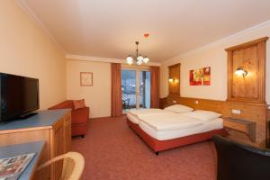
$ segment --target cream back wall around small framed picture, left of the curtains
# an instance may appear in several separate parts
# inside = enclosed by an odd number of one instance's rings
[[[80,86],[80,72],[93,72],[93,86]],[[67,99],[85,99],[90,117],[111,116],[111,64],[67,60]]]

